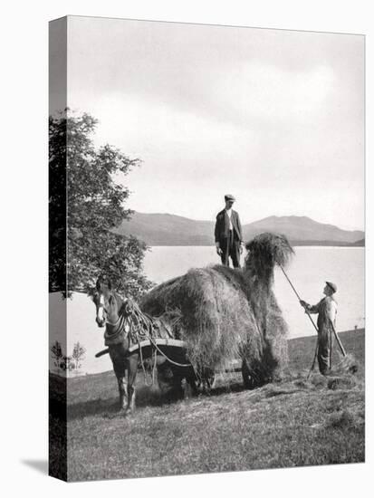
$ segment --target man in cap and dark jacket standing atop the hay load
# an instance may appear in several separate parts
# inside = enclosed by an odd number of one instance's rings
[[[225,195],[225,209],[216,215],[216,253],[221,256],[222,264],[230,266],[229,257],[234,268],[240,268],[240,254],[243,253],[242,225],[238,213],[234,211],[235,196]]]

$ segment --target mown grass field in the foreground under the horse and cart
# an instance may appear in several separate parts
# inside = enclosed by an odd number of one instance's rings
[[[355,376],[314,373],[306,382],[315,337],[289,341],[290,378],[253,391],[240,375],[219,374],[211,396],[173,402],[145,388],[139,374],[134,417],[117,416],[112,372],[51,376],[52,411],[67,382],[68,480],[363,462],[364,336],[340,333],[359,362]],[[333,364],[338,360],[335,352]],[[58,422],[52,417],[56,430]]]

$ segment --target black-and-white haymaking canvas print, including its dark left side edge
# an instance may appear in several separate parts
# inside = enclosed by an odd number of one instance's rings
[[[50,474],[365,461],[364,75],[362,34],[51,22]]]

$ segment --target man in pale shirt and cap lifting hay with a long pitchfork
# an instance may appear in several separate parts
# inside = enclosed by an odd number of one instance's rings
[[[325,297],[320,302],[311,306],[305,301],[300,304],[307,313],[318,313],[318,366],[322,375],[326,375],[331,370],[331,334],[335,328],[335,319],[338,304],[333,298],[337,291],[335,283],[326,282],[323,289]]]

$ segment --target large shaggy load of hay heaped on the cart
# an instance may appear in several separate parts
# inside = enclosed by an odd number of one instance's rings
[[[198,371],[222,369],[240,358],[261,384],[281,375],[287,364],[287,325],[272,286],[275,264],[285,265],[292,247],[273,234],[258,235],[245,247],[245,268],[193,268],[155,287],[140,307],[187,342]]]

